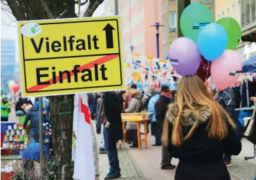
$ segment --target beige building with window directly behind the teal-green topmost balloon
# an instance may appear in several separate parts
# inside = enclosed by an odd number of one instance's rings
[[[178,3],[178,0],[162,0],[161,3],[161,17],[165,25],[165,27],[162,28],[162,57],[167,57],[170,44],[179,37]],[[203,3],[205,6],[208,6],[214,14],[213,0],[191,0],[190,3]]]

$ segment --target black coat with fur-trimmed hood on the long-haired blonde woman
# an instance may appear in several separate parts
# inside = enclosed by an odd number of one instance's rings
[[[223,140],[211,139],[208,136],[207,125],[211,118],[208,107],[199,110],[199,126],[187,140],[183,140],[180,147],[168,146],[173,157],[179,158],[175,180],[230,180],[228,170],[223,163],[223,152],[237,155],[241,152],[241,141],[235,130],[228,128],[228,136]],[[169,137],[172,139],[172,127],[177,117],[178,108],[172,106],[167,111],[166,120],[169,123]],[[194,125],[192,112],[181,114],[183,137]]]

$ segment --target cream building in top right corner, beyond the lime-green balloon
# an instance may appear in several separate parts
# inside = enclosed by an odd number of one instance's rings
[[[244,61],[256,55],[256,0],[215,0],[215,19],[233,17],[241,26],[241,40],[236,51]]]

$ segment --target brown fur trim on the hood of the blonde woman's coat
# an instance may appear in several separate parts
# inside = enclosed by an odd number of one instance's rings
[[[176,121],[178,116],[179,108],[176,104],[170,104],[166,113],[166,119],[171,123]],[[198,108],[197,112],[199,113],[200,123],[205,123],[210,120],[212,114],[208,106],[201,106]],[[196,115],[190,110],[183,110],[181,113],[181,125],[182,126],[193,126],[196,122]]]

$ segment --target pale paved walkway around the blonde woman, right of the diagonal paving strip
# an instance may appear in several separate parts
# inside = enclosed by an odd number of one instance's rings
[[[150,133],[150,132],[149,132]],[[154,137],[148,136],[149,148],[131,149],[127,145],[128,154],[132,161],[138,167],[140,176],[145,180],[174,180],[175,170],[161,170],[161,147],[151,146],[154,143]],[[256,159],[244,160],[245,156],[253,155],[253,144],[246,139],[242,140],[243,149],[239,156],[232,157],[233,166],[228,168],[232,180],[253,180],[256,172]],[[179,159],[172,159],[172,163],[177,165]]]

